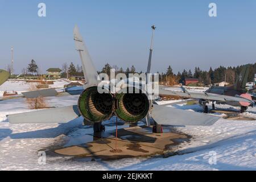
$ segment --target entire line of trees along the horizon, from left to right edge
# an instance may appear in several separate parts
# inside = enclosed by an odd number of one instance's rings
[[[132,65],[130,68],[128,67],[126,69],[123,69],[122,67],[119,68],[117,65],[111,66],[109,63],[106,63],[101,71],[98,71],[98,73],[106,73],[110,76],[110,69],[112,68],[115,69],[116,73],[125,73],[127,77],[129,76],[129,73],[143,73],[142,71],[138,72],[134,65]],[[220,66],[215,69],[212,69],[212,67],[210,67],[208,71],[204,71],[200,69],[200,67],[195,67],[193,71],[191,71],[191,69],[189,69],[188,71],[186,69],[183,69],[182,72],[179,71],[177,74],[175,74],[172,70],[171,65],[169,65],[165,73],[158,73],[159,81],[169,82],[170,85],[183,83],[185,78],[197,78],[199,79],[199,82],[204,85],[215,84],[221,81],[226,81],[230,84],[234,84],[234,82],[236,81],[236,77],[240,74],[242,68],[243,65],[239,65],[237,67]],[[64,63],[62,66],[62,71],[63,72],[61,73],[61,77],[84,76],[82,67],[79,64],[75,66],[72,62],[69,64]],[[24,75],[27,75],[28,72],[30,72],[31,75],[35,75],[35,73],[37,73],[37,75],[40,75],[40,69],[36,64],[35,60],[31,60],[30,64],[28,64],[28,67],[22,69],[22,73]],[[256,63],[249,64],[249,82],[254,81],[255,73]]]

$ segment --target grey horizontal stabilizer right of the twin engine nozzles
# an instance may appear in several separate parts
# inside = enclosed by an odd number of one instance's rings
[[[159,125],[191,125],[191,126],[210,126],[220,117],[214,115],[196,113],[193,111],[175,109],[162,105],[153,105],[151,117]]]

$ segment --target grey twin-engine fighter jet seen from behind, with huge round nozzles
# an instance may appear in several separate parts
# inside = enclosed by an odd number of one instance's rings
[[[102,86],[98,85],[98,73],[77,26],[73,35],[86,80],[77,105],[7,115],[10,123],[67,123],[82,116],[86,121],[95,124],[115,115],[128,123],[136,123],[146,118],[147,126],[151,124],[150,117],[159,125],[209,126],[219,119],[214,115],[156,105],[153,100],[148,99],[148,93],[142,92],[141,87],[137,87],[134,82],[122,89],[139,90],[139,93],[112,93],[108,87],[104,87],[105,93],[99,93],[98,88],[102,89]],[[150,65],[148,63],[148,71]],[[33,94],[32,92],[28,95]]]

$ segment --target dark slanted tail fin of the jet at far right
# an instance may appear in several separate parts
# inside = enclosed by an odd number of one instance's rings
[[[249,64],[246,64],[243,66],[241,73],[237,76],[236,84],[234,84],[234,89],[236,90],[245,89],[248,75],[249,75],[249,68],[250,68]]]

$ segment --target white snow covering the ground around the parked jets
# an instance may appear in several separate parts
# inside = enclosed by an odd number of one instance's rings
[[[11,89],[13,85],[7,84]],[[19,89],[26,90],[26,85],[23,86],[20,85]],[[2,85],[0,90],[4,91],[3,88],[5,86]],[[48,106],[68,106],[76,104],[77,98],[78,96],[49,97],[47,103]],[[171,107],[179,109],[201,111],[199,105],[171,104]],[[236,109],[226,105],[216,107]],[[256,170],[256,121],[222,118],[213,126],[175,127],[175,130],[191,135],[192,138],[177,146],[177,155],[169,158],[155,156],[85,161],[73,160],[68,156],[47,155],[46,164],[40,165],[38,151],[61,145],[67,139],[79,140],[85,133],[92,133],[93,129],[82,126],[82,118],[61,125],[11,125],[7,121],[7,114],[23,111],[31,111],[24,98],[0,102],[0,170]],[[243,115],[256,118],[256,108],[250,108]]]

